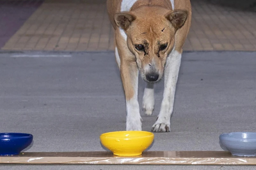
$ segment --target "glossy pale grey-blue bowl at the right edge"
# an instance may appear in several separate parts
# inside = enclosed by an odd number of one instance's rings
[[[256,132],[230,132],[220,135],[220,145],[232,155],[239,157],[256,156]]]

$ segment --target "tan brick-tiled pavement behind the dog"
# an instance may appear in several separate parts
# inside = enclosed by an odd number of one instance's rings
[[[207,0],[191,3],[193,19],[184,50],[256,51],[256,12]],[[113,50],[106,0],[45,0],[1,50]]]

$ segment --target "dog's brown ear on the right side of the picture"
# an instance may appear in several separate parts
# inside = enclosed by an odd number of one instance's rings
[[[179,29],[186,22],[186,19],[188,17],[188,11],[174,10],[170,13],[167,13],[164,17],[170,20],[171,24],[175,29]]]

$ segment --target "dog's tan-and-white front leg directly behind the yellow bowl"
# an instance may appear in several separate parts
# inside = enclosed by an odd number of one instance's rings
[[[140,106],[138,103],[138,67],[136,62],[121,60],[120,71],[126,100],[126,131],[141,131]]]

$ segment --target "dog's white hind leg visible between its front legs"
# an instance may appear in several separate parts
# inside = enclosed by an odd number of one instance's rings
[[[152,115],[154,110],[154,83],[147,83],[142,99],[142,109],[145,115]]]

